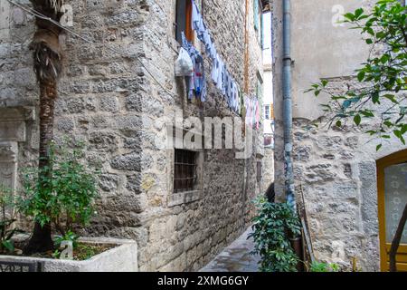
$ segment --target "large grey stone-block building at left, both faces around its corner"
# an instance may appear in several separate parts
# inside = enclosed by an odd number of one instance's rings
[[[179,50],[176,1],[69,4],[71,29],[91,43],[62,35],[65,69],[55,135],[56,140],[84,140],[86,162],[102,169],[99,215],[84,234],[136,239],[141,271],[198,270],[251,224],[251,200],[262,190],[262,134],[254,134],[254,150],[247,160],[235,159],[234,150],[198,150],[197,189],[173,193],[175,149],[159,146],[165,142],[162,118],[174,118],[177,110],[185,118],[201,120],[234,116],[209,77],[207,102],[187,102],[184,83],[175,78],[174,70]],[[248,0],[247,7],[240,0],[197,4],[218,53],[241,88],[248,65],[247,89],[254,95],[262,62],[253,1]],[[34,28],[31,14],[1,1],[0,169],[14,164],[13,172],[1,171],[1,180],[11,180],[16,189],[17,167],[35,166],[38,154],[39,92],[28,49]],[[203,50],[196,39],[195,44]],[[250,58],[245,64],[246,49]],[[212,63],[204,59],[209,76]]]

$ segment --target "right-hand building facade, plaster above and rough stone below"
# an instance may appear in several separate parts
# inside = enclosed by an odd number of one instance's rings
[[[352,268],[354,257],[364,271],[380,271],[383,241],[379,238],[377,162],[405,150],[395,138],[376,151],[379,140],[361,128],[327,129],[319,106],[327,96],[305,93],[320,78],[332,92],[357,85],[355,69],[367,59],[369,47],[358,31],[337,24],[341,14],[358,7],[369,10],[375,1],[291,1],[291,53],[294,174],[298,202],[304,195],[311,238],[317,259]],[[276,111],[276,193],[284,198],[284,143],[282,119],[282,1],[272,1],[274,99]],[[385,108],[386,104],[383,103]],[[318,128],[310,126],[322,121]],[[388,241],[387,241],[388,242]],[[384,252],[385,255],[385,252]]]

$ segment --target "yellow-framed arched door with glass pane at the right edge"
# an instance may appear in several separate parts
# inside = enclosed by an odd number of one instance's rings
[[[389,270],[389,251],[407,203],[407,150],[377,161],[378,213],[382,271]],[[407,228],[397,252],[397,270],[407,272]]]

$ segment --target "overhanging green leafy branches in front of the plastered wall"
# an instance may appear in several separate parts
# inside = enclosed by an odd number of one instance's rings
[[[314,83],[308,92],[330,96],[324,104],[329,113],[329,125],[345,127],[352,121],[360,126],[363,120],[379,119],[379,124],[366,131],[370,136],[388,140],[392,135],[403,144],[407,132],[405,101],[407,95],[407,7],[397,0],[381,0],[373,12],[359,8],[345,14],[345,23],[354,24],[364,34],[371,53],[363,67],[355,71],[358,85],[348,85],[347,92],[336,93],[329,89],[329,82]],[[385,102],[385,106],[380,106]],[[376,150],[380,150],[379,144]]]

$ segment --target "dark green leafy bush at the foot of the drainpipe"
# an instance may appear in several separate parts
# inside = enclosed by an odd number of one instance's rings
[[[252,254],[261,256],[261,272],[296,272],[298,256],[290,245],[290,237],[298,237],[300,223],[287,203],[270,203],[258,198],[259,214],[254,218],[253,233],[255,248]]]

